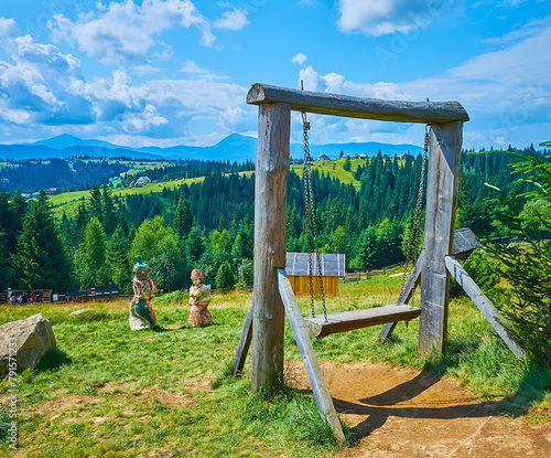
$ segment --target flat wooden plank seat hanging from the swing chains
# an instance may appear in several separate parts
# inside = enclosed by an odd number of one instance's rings
[[[369,326],[409,321],[421,315],[421,309],[411,306],[383,306],[371,309],[341,311],[327,315],[327,321],[323,315],[305,317],[306,329],[314,337],[325,337],[336,332],[346,332],[354,329],[367,328]]]

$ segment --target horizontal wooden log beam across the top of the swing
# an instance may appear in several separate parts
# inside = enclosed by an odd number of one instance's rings
[[[396,123],[467,121],[468,115],[458,102],[406,102],[360,98],[346,95],[313,93],[287,87],[253,84],[247,94],[252,105],[289,104],[292,110],[305,109],[320,115],[378,119]]]

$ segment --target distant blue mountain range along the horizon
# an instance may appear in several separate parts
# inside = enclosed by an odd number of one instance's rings
[[[303,157],[302,143],[291,143],[291,157],[299,159]],[[128,157],[131,159],[152,160],[229,160],[230,162],[244,162],[255,160],[257,139],[252,137],[233,134],[216,145],[209,147],[175,146],[170,148],[142,147],[130,148],[107,141],[94,139],[80,139],[71,135],[61,135],[33,143],[2,145],[0,143],[0,158],[11,160],[22,159],[47,159],[68,158],[71,156],[94,157]],[[375,156],[381,150],[383,155],[403,155],[407,152],[417,155],[422,148],[415,145],[389,145],[377,141],[311,145],[312,156],[317,158],[327,155],[331,159],[339,157],[341,151],[354,156],[364,152]]]

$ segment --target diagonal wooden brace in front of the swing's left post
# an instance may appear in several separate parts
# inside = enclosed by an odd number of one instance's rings
[[[283,305],[285,307],[287,316],[289,317],[289,322],[291,323],[291,329],[293,330],[294,339],[299,345],[299,351],[301,353],[302,362],[304,363],[304,369],[306,370],[310,386],[314,393],[317,409],[320,411],[322,418],[327,419],[335,438],[339,443],[344,443],[345,435],[341,426],[341,420],[338,419],[327,384],[323,377],[322,368],[320,368],[320,363],[317,362],[317,356],[315,355],[314,348],[310,341],[301,309],[299,308],[299,303],[296,303],[296,298],[291,289],[291,284],[287,277],[285,269],[278,269],[278,286],[281,299],[283,300]]]

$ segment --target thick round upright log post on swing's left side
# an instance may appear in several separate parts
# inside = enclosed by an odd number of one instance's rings
[[[278,393],[283,385],[284,308],[278,268],[287,262],[287,175],[291,109],[262,104],[258,116],[255,181],[255,287],[251,388]]]

